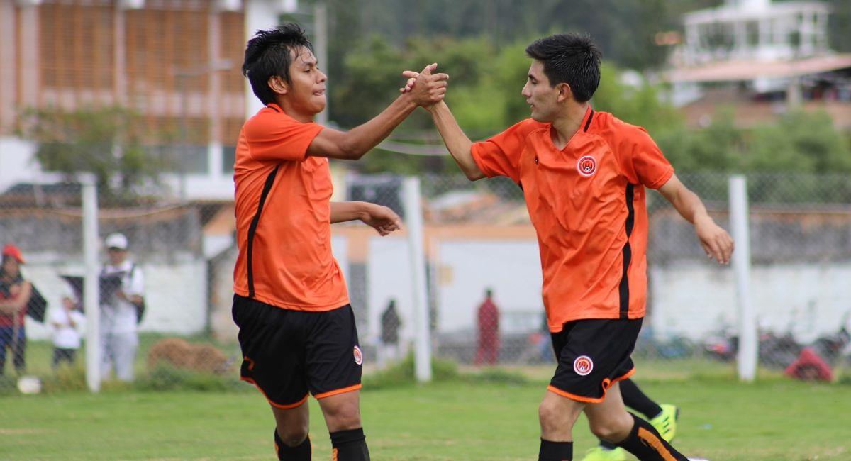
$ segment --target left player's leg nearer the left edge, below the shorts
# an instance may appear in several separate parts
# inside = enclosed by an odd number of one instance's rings
[[[296,407],[277,407],[271,404],[275,414],[275,452],[278,459],[310,461],[311,438],[310,407],[307,400]]]

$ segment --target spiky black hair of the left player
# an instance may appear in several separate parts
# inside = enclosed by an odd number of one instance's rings
[[[282,77],[291,83],[289,65],[293,62],[293,55],[302,48],[313,52],[313,45],[307,40],[305,30],[294,23],[282,24],[274,29],[261,29],[248,40],[243,76],[248,77],[254,95],[263,104],[275,102],[275,92],[269,88],[270,77]]]

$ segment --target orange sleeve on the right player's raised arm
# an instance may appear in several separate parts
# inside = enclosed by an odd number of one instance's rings
[[[534,128],[534,121],[524,120],[493,138],[473,143],[471,153],[478,168],[488,178],[508,176],[520,180],[520,156],[526,137]]]

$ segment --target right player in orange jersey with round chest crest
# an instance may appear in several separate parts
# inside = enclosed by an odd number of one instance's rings
[[[538,235],[558,357],[539,407],[539,459],[572,459],[572,429],[583,411],[597,437],[640,459],[687,459],[653,425],[627,413],[620,396],[619,381],[635,371],[630,356],[645,310],[645,188],[658,189],[694,224],[710,258],[727,264],[733,240],[643,128],[591,109],[600,82],[591,37],[545,37],[526,53],[532,65],[522,94],[531,118],[472,143],[444,102],[429,110],[468,179],[507,176],[523,189]],[[417,84],[409,80],[400,89]]]

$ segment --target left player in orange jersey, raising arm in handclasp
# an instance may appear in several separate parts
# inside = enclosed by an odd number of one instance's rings
[[[294,24],[257,31],[243,75],[266,107],[239,134],[234,165],[237,245],[233,318],[243,351],[241,378],[271,404],[279,459],[309,460],[307,396],[322,408],[333,458],[369,458],[359,407],[363,354],[332,223],[360,219],[385,236],[399,229],[390,208],[330,202],[328,159],[355,160],[417,106],[443,100],[448,76],[431,75],[363,125],[340,132],[313,118],[325,107],[326,75]]]

